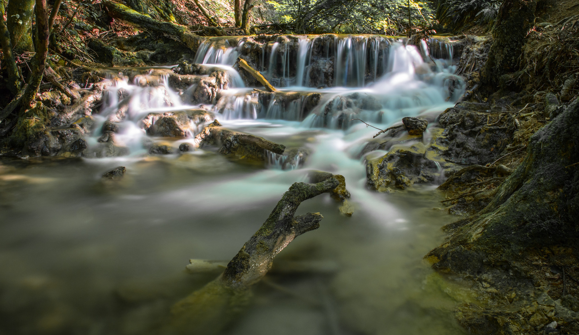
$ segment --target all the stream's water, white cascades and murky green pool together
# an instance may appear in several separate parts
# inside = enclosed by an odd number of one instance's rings
[[[463,334],[452,310],[468,294],[422,260],[442,241],[439,228],[455,218],[433,209],[442,196],[435,185],[369,191],[360,151],[377,130],[350,121],[384,129],[452,106],[464,89],[459,83],[449,90],[452,49],[382,37],[336,37],[321,46],[316,39],[301,38],[294,54],[288,43],[272,41],[259,55],[258,70],[284,92],[320,93],[307,115],[303,99],[255,103],[256,93],[232,67],[243,41],[226,48],[203,43],[195,59],[219,64],[232,78],[222,92],[228,107],[204,106],[225,128],[305,148],[307,156],[269,154],[262,166],[199,148],[148,155],[147,141],[178,147],[202,125],[185,139],[156,139],[141,129],[145,115],[200,106],[183,102],[167,84],[119,80],[94,118],[102,124],[114,115],[118,90],[127,92],[116,141],[129,155],[0,158],[0,334],[146,333],[171,304],[215,277],[186,272],[189,258],[232,258],[310,169],[345,176],[353,216],[340,215],[327,194],[302,203],[296,214],[320,212],[321,227],[276,257],[302,268],[274,268],[224,334]],[[314,63],[324,57],[334,61],[336,85],[310,87]],[[122,180],[100,180],[120,165],[127,168]]]

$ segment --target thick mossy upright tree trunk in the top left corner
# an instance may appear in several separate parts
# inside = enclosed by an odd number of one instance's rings
[[[6,10],[10,42],[12,42],[14,52],[33,52],[32,17],[34,0],[10,0]]]

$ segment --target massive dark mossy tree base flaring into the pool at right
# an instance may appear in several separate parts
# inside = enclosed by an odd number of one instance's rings
[[[523,163],[485,209],[449,224],[426,258],[436,270],[477,278],[510,269],[540,247],[579,249],[579,99],[530,139]],[[493,268],[495,270],[493,270]],[[530,274],[527,274],[530,275]],[[523,275],[522,278],[527,278]]]

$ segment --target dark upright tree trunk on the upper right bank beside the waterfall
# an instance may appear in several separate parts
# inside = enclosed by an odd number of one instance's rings
[[[497,85],[501,75],[515,71],[525,37],[534,25],[536,6],[536,0],[507,0],[500,6],[483,81]]]

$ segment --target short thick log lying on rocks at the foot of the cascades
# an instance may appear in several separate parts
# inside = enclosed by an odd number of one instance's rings
[[[233,132],[221,127],[217,120],[203,128],[193,140],[198,147],[206,145],[221,145],[217,152],[220,154],[233,154],[237,158],[250,158],[263,161],[263,150],[276,154],[283,154],[285,145],[264,139],[263,137]]]

